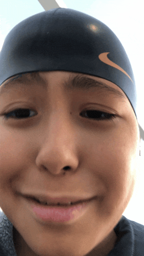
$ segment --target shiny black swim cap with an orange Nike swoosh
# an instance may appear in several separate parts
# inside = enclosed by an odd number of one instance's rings
[[[123,90],[136,115],[136,86],[124,47],[108,26],[83,12],[56,8],[20,22],[6,36],[0,67],[0,85],[34,71],[65,70],[107,79]]]

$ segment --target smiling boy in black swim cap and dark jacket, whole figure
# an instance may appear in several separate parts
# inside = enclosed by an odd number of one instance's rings
[[[10,31],[0,63],[1,254],[143,255],[143,225],[122,216],[140,136],[115,34],[52,9]]]

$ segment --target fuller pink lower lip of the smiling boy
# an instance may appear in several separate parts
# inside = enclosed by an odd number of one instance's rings
[[[71,220],[77,220],[82,216],[88,208],[90,200],[76,205],[67,207],[62,206],[45,206],[37,203],[35,200],[31,200],[32,212],[40,218],[40,220],[46,222],[69,222]]]

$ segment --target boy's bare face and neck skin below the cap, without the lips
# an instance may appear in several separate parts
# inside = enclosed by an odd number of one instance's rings
[[[102,78],[81,74],[124,98],[101,88],[85,90],[80,79],[73,88],[70,81],[77,75],[39,72],[32,80],[24,75],[23,84],[14,80],[0,87],[0,206],[17,230],[18,255],[107,255],[133,193],[139,129],[132,106],[118,86]],[[17,108],[32,112],[4,119]],[[92,119],[88,110],[116,118]],[[82,216],[46,223],[31,211],[26,194],[96,198]]]

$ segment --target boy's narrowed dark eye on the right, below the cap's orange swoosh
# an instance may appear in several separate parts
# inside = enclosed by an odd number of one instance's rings
[[[96,111],[96,110],[85,110],[81,112],[80,116],[86,117],[89,119],[94,119],[94,120],[112,120],[116,118],[115,114],[110,114],[106,112],[101,112],[101,111]]]

